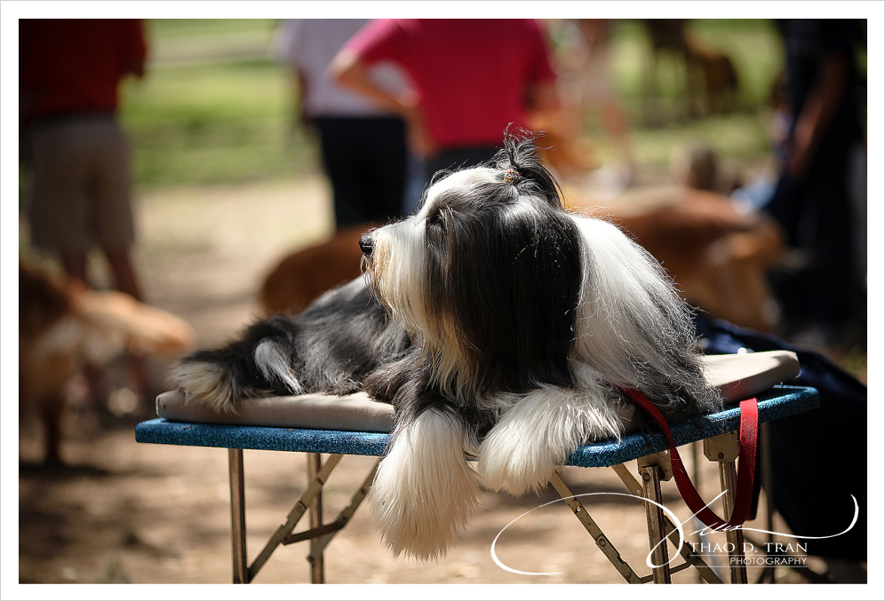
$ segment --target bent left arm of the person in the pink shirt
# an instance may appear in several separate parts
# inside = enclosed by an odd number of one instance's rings
[[[341,87],[362,94],[379,108],[403,117],[409,130],[410,146],[416,154],[428,156],[435,152],[435,144],[427,132],[414,91],[407,89],[396,95],[385,90],[372,81],[363,60],[347,48],[338,53],[329,69],[332,79]]]

